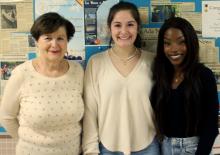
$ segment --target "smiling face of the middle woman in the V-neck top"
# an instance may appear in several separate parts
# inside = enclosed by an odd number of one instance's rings
[[[134,46],[138,33],[138,24],[129,10],[123,10],[115,14],[111,22],[110,31],[116,46]]]

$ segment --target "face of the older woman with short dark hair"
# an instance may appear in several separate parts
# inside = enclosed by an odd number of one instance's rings
[[[59,61],[67,52],[67,34],[65,27],[59,27],[55,32],[43,34],[36,42],[40,57],[47,61]]]

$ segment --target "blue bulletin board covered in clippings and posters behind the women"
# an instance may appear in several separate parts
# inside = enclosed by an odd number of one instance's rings
[[[91,55],[109,47],[107,15],[120,0],[0,0],[0,97],[11,71],[37,56],[29,31],[39,15],[53,11],[69,19],[76,28],[68,44],[67,59],[86,65]],[[137,5],[141,15],[143,49],[155,53],[157,35],[171,16],[187,19],[200,43],[200,60],[215,74],[220,98],[220,0],[124,0]],[[5,134],[0,127],[0,134]],[[214,152],[220,149],[220,138]],[[219,151],[220,152],[220,151]]]

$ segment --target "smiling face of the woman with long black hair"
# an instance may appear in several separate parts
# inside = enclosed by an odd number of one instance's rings
[[[175,68],[183,63],[187,47],[180,29],[169,28],[164,34],[164,53]]]

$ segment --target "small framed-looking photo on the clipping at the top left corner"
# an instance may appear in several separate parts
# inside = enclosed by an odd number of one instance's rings
[[[17,28],[17,11],[16,5],[1,5],[1,28]]]

